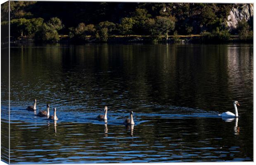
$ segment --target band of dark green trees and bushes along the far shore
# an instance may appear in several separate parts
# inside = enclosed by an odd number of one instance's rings
[[[35,34],[38,36],[38,31],[41,31],[44,33],[42,36],[47,34],[45,40],[51,41],[59,40],[58,33],[69,33],[72,40],[78,41],[86,40],[88,35],[101,41],[118,34],[150,35],[153,41],[158,42],[163,35],[168,40],[168,34],[173,31],[180,35],[202,32],[207,36],[208,33],[204,31],[208,31],[211,33],[210,38],[226,40],[226,21],[230,10],[242,6],[149,2],[51,2],[49,5],[48,2],[40,1],[10,1],[10,32],[14,38],[20,35],[35,38]],[[7,21],[8,3],[1,5],[1,13],[1,19]],[[243,21],[237,28],[239,35],[244,38],[252,38],[253,18],[248,23],[249,29]],[[5,24],[2,22],[2,25]]]

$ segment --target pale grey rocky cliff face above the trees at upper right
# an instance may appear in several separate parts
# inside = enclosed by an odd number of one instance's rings
[[[228,16],[228,27],[230,29],[234,29],[237,27],[237,22],[242,19],[246,19],[249,21],[253,19],[254,16],[254,4],[244,4],[239,7],[234,7],[230,11],[230,15]]]

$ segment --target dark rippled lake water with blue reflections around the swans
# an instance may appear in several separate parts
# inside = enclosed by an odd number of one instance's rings
[[[253,161],[253,45],[12,45],[11,163]],[[24,110],[57,108],[57,125]],[[218,114],[234,113],[225,120]],[[108,122],[95,120],[108,106]],[[2,106],[2,109],[7,107]],[[122,125],[133,110],[135,125]]]

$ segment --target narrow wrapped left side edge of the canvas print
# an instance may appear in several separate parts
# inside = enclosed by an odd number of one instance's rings
[[[9,162],[9,1],[1,4],[1,161]]]

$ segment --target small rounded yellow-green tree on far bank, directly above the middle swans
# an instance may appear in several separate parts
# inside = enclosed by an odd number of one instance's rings
[[[123,35],[130,35],[134,24],[135,21],[132,18],[125,17],[121,19],[121,24],[119,24],[120,33]]]

